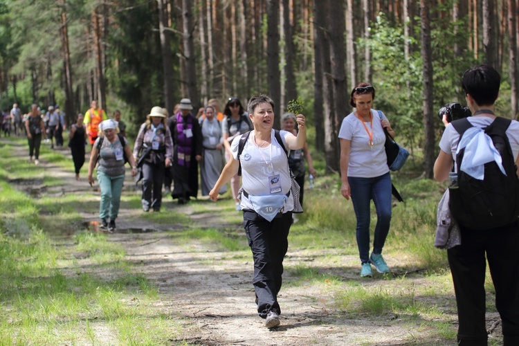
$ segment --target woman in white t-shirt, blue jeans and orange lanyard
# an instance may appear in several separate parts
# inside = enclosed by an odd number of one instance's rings
[[[356,239],[361,257],[361,276],[371,277],[373,264],[379,273],[390,269],[382,257],[382,248],[391,222],[391,176],[385,155],[384,128],[394,137],[388,118],[372,109],[375,89],[367,83],[358,84],[349,104],[354,111],[340,126],[341,194],[352,197],[357,219]],[[370,200],[376,208],[373,251],[370,255]]]

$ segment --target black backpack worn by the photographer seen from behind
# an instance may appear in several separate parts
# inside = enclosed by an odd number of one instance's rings
[[[459,133],[459,140],[464,132],[472,127],[466,119],[451,123]],[[474,230],[485,230],[505,226],[518,221],[519,217],[519,179],[517,167],[506,134],[511,120],[496,117],[484,133],[488,135],[495,149],[502,158],[506,175],[502,174],[495,161],[484,164],[484,179],[475,179],[462,172],[465,148],[456,156],[458,188],[449,188],[449,208],[458,224]]]

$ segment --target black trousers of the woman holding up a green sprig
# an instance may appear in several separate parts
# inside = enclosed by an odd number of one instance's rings
[[[266,318],[273,309],[281,313],[277,302],[283,274],[283,259],[289,248],[292,212],[285,212],[271,222],[252,210],[244,210],[244,228],[254,259],[253,286],[257,313]]]

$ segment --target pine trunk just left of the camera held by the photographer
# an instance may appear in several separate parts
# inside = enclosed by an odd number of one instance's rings
[[[432,48],[430,43],[430,13],[429,1],[420,0],[421,17],[421,57],[424,70],[424,167],[425,176],[432,179],[432,168],[435,162],[435,114],[432,107]]]

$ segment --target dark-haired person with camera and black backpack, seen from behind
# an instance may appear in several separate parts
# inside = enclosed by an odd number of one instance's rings
[[[462,89],[472,116],[448,122],[434,165],[449,179],[449,208],[461,244],[448,248],[459,327],[458,345],[487,345],[486,261],[502,320],[504,346],[519,345],[519,122],[495,116],[501,76],[491,66],[468,69]]]

